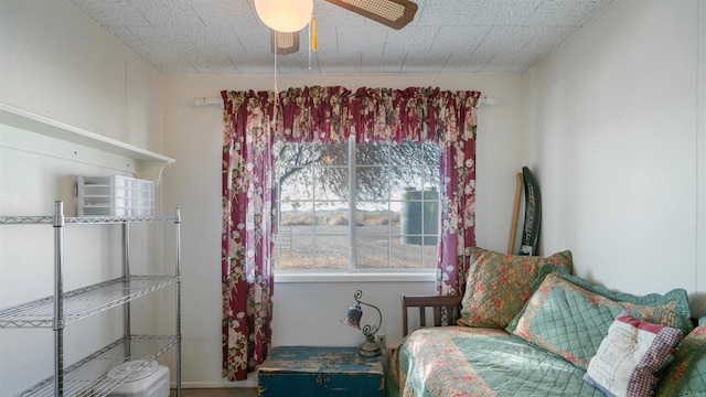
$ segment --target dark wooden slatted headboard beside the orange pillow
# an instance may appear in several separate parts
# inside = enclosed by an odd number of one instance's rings
[[[402,294],[402,331],[403,336],[407,336],[409,333],[409,308],[419,309],[419,325],[420,326],[441,326],[441,308],[446,308],[447,313],[451,318],[451,324],[456,323],[456,320],[460,316],[461,312],[461,296],[407,296]],[[427,309],[430,308],[434,312],[434,324],[427,325]]]

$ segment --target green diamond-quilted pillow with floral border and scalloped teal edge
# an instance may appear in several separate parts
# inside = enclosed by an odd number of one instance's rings
[[[586,369],[608,328],[622,311],[676,328],[682,334],[692,330],[688,297],[683,289],[664,296],[612,293],[549,266],[542,268],[535,292],[506,330]]]

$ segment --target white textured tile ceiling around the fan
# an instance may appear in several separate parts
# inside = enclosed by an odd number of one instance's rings
[[[68,0],[164,73],[272,73],[253,0]],[[416,0],[396,31],[314,0],[319,51],[277,56],[282,74],[522,72],[614,0]]]

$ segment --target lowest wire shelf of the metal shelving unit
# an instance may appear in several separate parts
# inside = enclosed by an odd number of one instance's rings
[[[124,376],[108,376],[110,369],[133,360],[156,360],[179,342],[174,335],[129,335],[64,369],[64,396],[107,396],[125,383],[140,366]],[[145,366],[147,363],[145,363]],[[53,397],[54,377],[49,377],[20,394],[22,397]]]

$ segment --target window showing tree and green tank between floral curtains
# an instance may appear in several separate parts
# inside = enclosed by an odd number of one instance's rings
[[[275,149],[276,270],[436,269],[438,144],[351,137]]]

